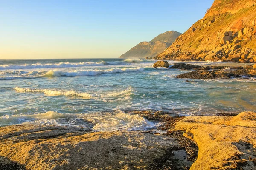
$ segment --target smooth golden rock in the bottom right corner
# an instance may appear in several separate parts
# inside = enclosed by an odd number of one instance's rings
[[[254,112],[187,116],[175,125],[176,130],[185,131],[183,136],[198,145],[198,158],[190,170],[255,170],[255,128]]]

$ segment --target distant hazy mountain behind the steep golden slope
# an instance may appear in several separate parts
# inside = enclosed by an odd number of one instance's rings
[[[176,31],[167,31],[163,34],[158,35],[149,42],[140,42],[131,50],[122,54],[119,58],[145,58],[145,57],[156,57],[157,54],[164,51],[167,47],[172,45],[181,33]]]

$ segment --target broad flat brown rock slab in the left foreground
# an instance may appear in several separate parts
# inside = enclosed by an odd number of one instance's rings
[[[1,127],[0,136],[0,167],[7,169],[161,169],[159,161],[162,166],[173,155],[186,156],[183,150],[168,151],[179,145],[172,137],[151,133],[28,124]]]

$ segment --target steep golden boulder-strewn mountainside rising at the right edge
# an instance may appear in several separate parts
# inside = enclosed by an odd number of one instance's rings
[[[155,59],[256,62],[256,0],[215,0]]]

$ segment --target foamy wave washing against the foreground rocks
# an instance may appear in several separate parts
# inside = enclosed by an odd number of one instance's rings
[[[150,130],[157,128],[159,122],[151,122],[139,115],[116,113],[66,114],[54,111],[36,114],[0,116],[1,125],[44,124],[58,126],[87,127],[95,131]]]

